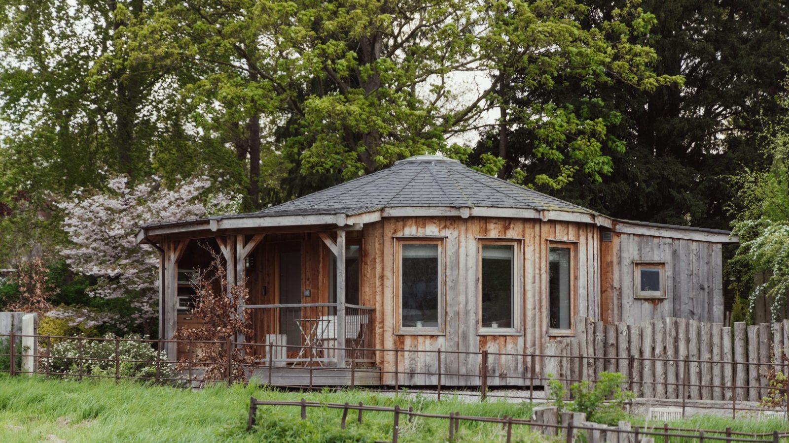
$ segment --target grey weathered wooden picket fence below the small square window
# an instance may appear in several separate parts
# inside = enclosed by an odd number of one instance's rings
[[[691,400],[759,401],[768,395],[770,367],[786,374],[789,366],[789,320],[724,327],[686,318],[627,325],[577,317],[575,332],[548,344],[546,354],[563,358],[547,359],[546,373],[578,380],[620,372],[647,398],[680,399],[687,385]]]

